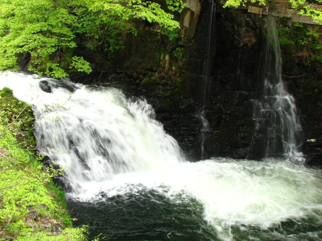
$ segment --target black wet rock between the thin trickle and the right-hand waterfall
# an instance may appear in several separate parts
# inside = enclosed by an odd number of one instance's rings
[[[206,109],[212,129],[206,141],[207,153],[209,156],[249,158],[255,129],[252,99],[256,98],[260,87],[257,66],[261,34],[256,28],[263,23],[262,19],[243,11],[226,12],[221,6],[217,6],[217,11],[216,49]],[[197,78],[192,82],[197,88]]]

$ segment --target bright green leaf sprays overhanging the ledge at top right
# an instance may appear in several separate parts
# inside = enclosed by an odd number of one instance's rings
[[[268,0],[270,2],[274,0]],[[239,7],[245,6],[247,2],[265,5],[265,0],[228,0],[223,7]],[[302,16],[312,17],[314,22],[322,24],[322,8],[316,4],[321,4],[322,0],[289,0],[291,7],[298,10],[298,14]]]

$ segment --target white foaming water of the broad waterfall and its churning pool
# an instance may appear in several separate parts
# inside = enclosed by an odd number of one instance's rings
[[[41,80],[48,81],[52,93],[39,89]],[[37,116],[65,103],[70,90],[75,90],[65,110],[46,116],[60,117],[59,121],[43,118],[34,127],[38,144],[44,146],[41,153],[70,167],[64,182],[73,200],[95,202],[101,200],[101,193],[104,198],[122,197],[140,195],[142,190],[152,190],[176,204],[194,198],[222,240],[235,239],[234,227],[241,232],[254,227],[269,230],[287,220],[301,223],[310,217],[321,223],[319,171],[276,159],[186,162],[175,139],[154,119],[151,106],[144,100],[127,100],[114,88],[19,73],[0,76],[0,89],[4,86],[33,104]],[[308,235],[317,234],[321,235],[319,231]]]

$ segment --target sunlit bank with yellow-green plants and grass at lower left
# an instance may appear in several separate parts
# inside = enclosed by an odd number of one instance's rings
[[[64,192],[52,182],[59,171],[44,172],[35,155],[33,112],[0,91],[0,241],[81,241],[86,227],[72,228]],[[51,173],[51,174],[50,174]],[[52,227],[65,227],[57,235]],[[51,226],[51,227],[48,227]],[[50,236],[49,236],[50,235]]]

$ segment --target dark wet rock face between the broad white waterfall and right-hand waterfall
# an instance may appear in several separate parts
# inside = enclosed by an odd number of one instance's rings
[[[246,158],[254,129],[251,99],[257,93],[256,66],[260,58],[260,40],[255,38],[257,20],[256,17],[248,18],[243,11],[216,14],[210,57],[212,70],[203,107],[203,92],[200,89],[207,54],[204,51],[204,35],[207,34],[209,3],[204,1],[202,4],[205,5],[202,5],[194,38],[184,39],[185,61],[173,62],[172,59],[168,66],[165,55],[162,58],[159,56],[157,61],[157,53],[163,47],[168,51],[168,47],[170,50],[176,48],[175,44],[162,39],[154,43],[140,43],[142,36],[138,36],[137,39],[129,39],[125,49],[130,50],[122,50],[114,61],[114,69],[105,72],[109,74],[94,69],[91,79],[87,77],[85,83],[112,81],[110,73],[116,72],[120,76],[119,81],[130,86],[135,95],[148,99],[156,110],[157,120],[178,140],[190,160],[200,159],[202,141],[206,157]],[[221,7],[217,6],[217,9]],[[242,26],[247,39],[241,41]],[[155,39],[153,33],[142,34],[150,40]],[[80,78],[80,82],[84,81]],[[122,88],[126,89],[124,85]],[[201,133],[200,112],[203,109],[209,130]]]

